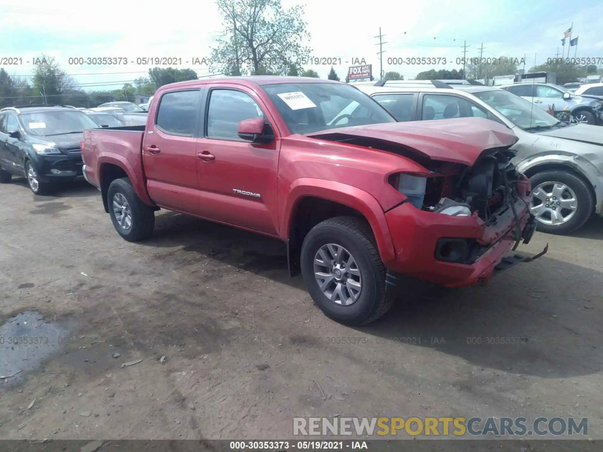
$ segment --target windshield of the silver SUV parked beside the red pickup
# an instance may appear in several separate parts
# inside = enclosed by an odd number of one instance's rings
[[[535,127],[554,127],[560,121],[519,96],[505,90],[473,93],[491,107],[496,108],[513,124],[529,130]]]

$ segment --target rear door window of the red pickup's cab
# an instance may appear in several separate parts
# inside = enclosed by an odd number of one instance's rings
[[[159,99],[155,124],[165,133],[197,136],[201,90],[167,92]]]

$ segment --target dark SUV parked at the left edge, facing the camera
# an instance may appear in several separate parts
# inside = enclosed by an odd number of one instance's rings
[[[0,183],[26,177],[36,195],[52,183],[82,175],[80,140],[92,119],[65,105],[24,105],[0,110]]]

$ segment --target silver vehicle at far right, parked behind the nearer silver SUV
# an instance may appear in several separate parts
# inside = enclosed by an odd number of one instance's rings
[[[564,113],[569,113],[573,117],[572,122],[603,125],[603,102],[590,96],[577,95],[563,86],[551,83],[514,83],[500,88],[521,96],[542,110],[551,111],[557,119],[561,119]]]

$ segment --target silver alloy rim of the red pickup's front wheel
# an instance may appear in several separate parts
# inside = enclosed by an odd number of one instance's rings
[[[336,243],[327,243],[317,251],[314,277],[324,295],[341,306],[355,303],[362,291],[362,275],[356,260]]]

